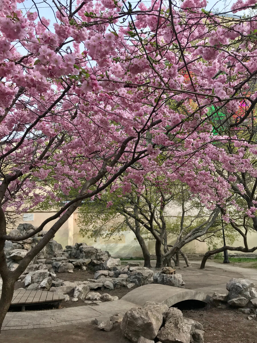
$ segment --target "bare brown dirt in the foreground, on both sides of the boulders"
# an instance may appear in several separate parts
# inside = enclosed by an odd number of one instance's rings
[[[205,343],[256,343],[257,320],[237,310],[204,308],[183,310],[184,317],[201,322]],[[2,331],[1,343],[129,343],[121,336],[120,324],[110,332],[100,331],[94,323],[56,328]]]

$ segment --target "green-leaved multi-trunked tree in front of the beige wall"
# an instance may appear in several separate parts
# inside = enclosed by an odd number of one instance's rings
[[[123,179],[119,180],[122,183]],[[125,195],[122,195],[117,185],[115,191],[106,189],[99,197],[83,201],[77,220],[82,235],[95,239],[104,237],[108,240],[113,235],[118,236],[130,229],[142,249],[145,267],[151,267],[146,244],[149,240],[155,242],[156,268],[171,265],[170,259],[164,262],[163,256],[178,244],[180,249],[170,258],[179,266],[180,253],[189,267],[190,263],[182,248],[194,239],[192,237],[196,233],[212,233],[209,230],[219,225],[212,222],[214,214],[206,210],[199,199],[192,199],[188,187],[179,181],[167,182],[165,178],[146,175],[140,183],[141,189],[132,181],[131,184],[131,191]],[[172,214],[174,211],[175,215]],[[209,222],[212,225],[208,226],[206,232]],[[173,245],[170,244],[171,239],[175,241]]]

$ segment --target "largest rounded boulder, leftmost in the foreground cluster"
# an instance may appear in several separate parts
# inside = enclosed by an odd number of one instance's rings
[[[162,313],[158,309],[134,307],[125,313],[121,322],[121,332],[132,342],[137,342],[140,336],[154,340],[162,320]]]

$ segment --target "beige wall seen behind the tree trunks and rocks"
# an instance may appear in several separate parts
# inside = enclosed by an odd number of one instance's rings
[[[176,212],[176,211],[174,211]],[[172,215],[174,215],[174,212]],[[34,214],[33,221],[24,221],[23,214],[20,216],[18,223],[29,223],[35,227],[39,226],[46,218],[52,216],[56,212],[32,212]],[[79,227],[76,223],[78,213],[74,212],[72,216],[61,226],[61,228],[56,233],[54,239],[65,248],[66,245],[74,245],[76,242],[85,242],[87,245],[93,245],[96,248],[107,250],[112,256],[120,257],[142,257],[142,252],[135,235],[131,230],[125,231],[121,236],[113,236],[111,239],[107,240],[104,238],[98,238],[96,241],[93,238],[83,237],[79,233]],[[58,219],[51,221],[46,224],[44,230],[49,230],[49,228],[55,223]],[[257,233],[248,233],[249,235],[249,248],[257,246]],[[175,242],[175,237],[170,236],[168,239],[169,244]],[[146,242],[149,252],[151,254],[155,253],[155,242],[149,240]],[[233,246],[243,246],[243,240],[236,240]],[[201,243],[197,240],[192,241],[187,244],[183,251],[187,253],[205,253],[208,250],[206,243]]]

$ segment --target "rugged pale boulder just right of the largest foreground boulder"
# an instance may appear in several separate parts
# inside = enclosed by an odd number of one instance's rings
[[[191,325],[182,317],[170,318],[157,334],[157,339],[162,343],[189,343]]]

